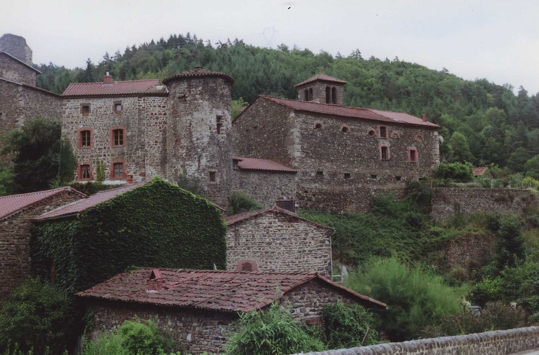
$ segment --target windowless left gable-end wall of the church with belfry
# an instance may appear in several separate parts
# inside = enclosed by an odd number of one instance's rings
[[[255,101],[233,122],[234,155],[291,166],[294,122],[290,114],[291,109],[272,101]]]

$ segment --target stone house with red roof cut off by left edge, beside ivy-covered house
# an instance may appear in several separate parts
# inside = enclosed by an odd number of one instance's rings
[[[31,274],[31,219],[86,197],[71,187],[0,197],[0,300]]]

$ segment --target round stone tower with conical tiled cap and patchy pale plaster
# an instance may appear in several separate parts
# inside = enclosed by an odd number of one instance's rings
[[[233,185],[231,76],[195,67],[163,80],[167,105],[167,178],[198,183],[201,194],[227,207]]]

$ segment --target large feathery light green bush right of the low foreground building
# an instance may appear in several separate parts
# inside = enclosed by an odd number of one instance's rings
[[[464,294],[464,290],[446,286],[440,276],[420,264],[408,268],[395,257],[374,258],[346,284],[389,305],[377,312],[378,326],[393,341],[417,338],[425,324],[456,314]]]

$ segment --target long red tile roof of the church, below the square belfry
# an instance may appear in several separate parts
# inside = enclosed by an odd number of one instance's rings
[[[438,124],[432,122],[424,122],[416,116],[405,114],[402,112],[392,112],[384,110],[376,110],[373,108],[349,107],[340,105],[329,105],[327,103],[317,103],[300,100],[290,100],[274,98],[273,96],[259,95],[260,98],[266,99],[279,105],[289,107],[297,111],[314,112],[325,115],[335,115],[342,117],[350,117],[355,119],[373,120],[378,122],[388,122],[397,124],[411,124],[413,126],[440,128]],[[245,112],[246,110],[244,110]],[[241,115],[240,115],[241,116]],[[238,117],[240,117],[238,116]]]

